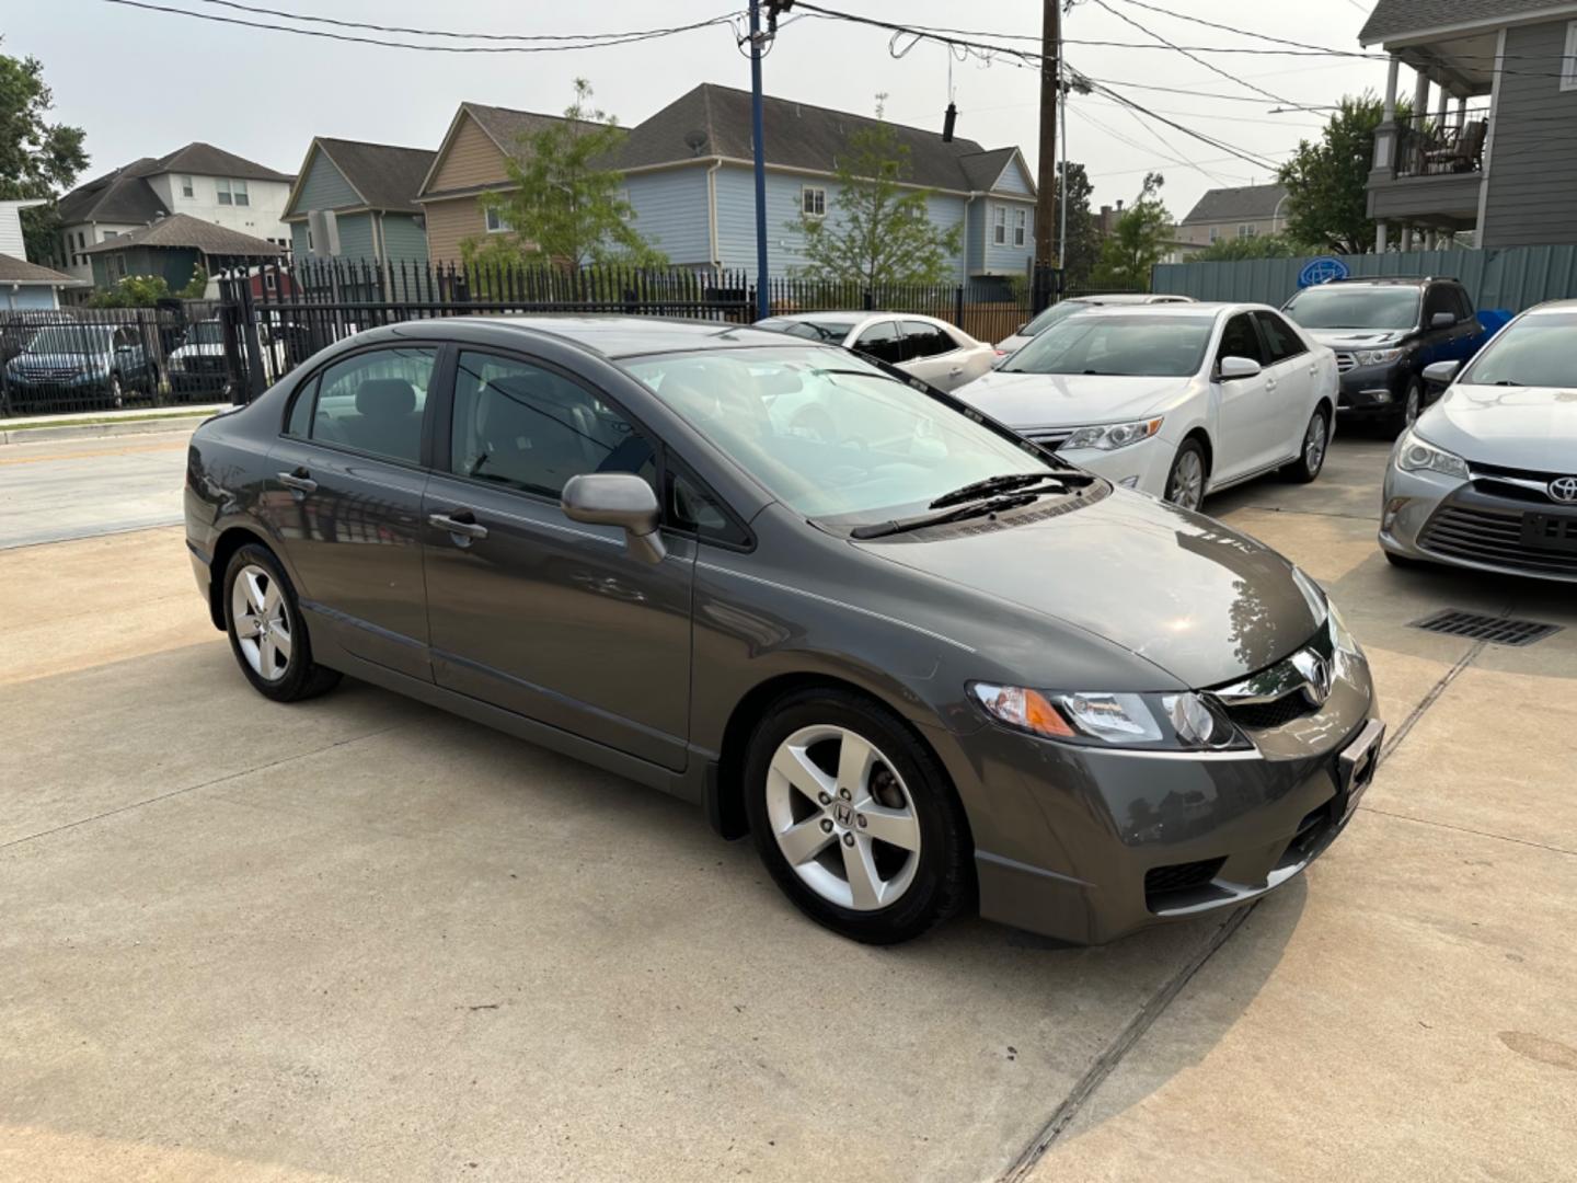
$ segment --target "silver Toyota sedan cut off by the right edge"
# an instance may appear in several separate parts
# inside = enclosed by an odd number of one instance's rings
[[[1528,309],[1465,369],[1424,377],[1449,386],[1391,451],[1386,558],[1577,582],[1577,300]]]

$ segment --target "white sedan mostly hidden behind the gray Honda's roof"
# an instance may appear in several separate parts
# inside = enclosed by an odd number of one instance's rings
[[[962,328],[910,312],[795,312],[757,320],[755,327],[844,345],[937,390],[956,390],[978,379],[997,356]]]

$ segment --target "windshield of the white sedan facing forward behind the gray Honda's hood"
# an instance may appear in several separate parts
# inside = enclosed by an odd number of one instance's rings
[[[1199,372],[1214,323],[1211,315],[1154,312],[1069,317],[1008,358],[1003,371],[1180,379]]]

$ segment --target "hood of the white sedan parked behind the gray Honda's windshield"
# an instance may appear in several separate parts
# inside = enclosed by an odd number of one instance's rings
[[[1113,379],[1099,374],[992,371],[954,391],[1011,427],[1077,427],[1120,423],[1162,410],[1189,379]]]

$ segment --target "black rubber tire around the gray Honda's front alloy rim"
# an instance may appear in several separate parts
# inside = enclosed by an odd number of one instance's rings
[[[874,910],[841,907],[811,888],[777,845],[768,812],[768,768],[779,745],[803,727],[833,726],[858,733],[891,763],[908,790],[919,828],[919,852],[908,888]],[[866,945],[912,940],[956,913],[973,898],[973,841],[964,806],[935,754],[889,710],[842,689],[795,691],[762,716],[744,762],[744,806],[755,849],[766,871],[793,904],[817,924]],[[837,845],[831,845],[837,850]]]

